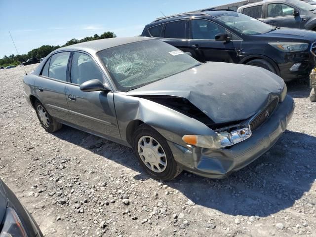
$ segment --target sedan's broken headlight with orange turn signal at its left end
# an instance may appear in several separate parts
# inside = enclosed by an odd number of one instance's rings
[[[205,135],[185,135],[182,140],[196,147],[219,149],[233,146],[241,141],[248,139],[251,136],[251,131],[248,128],[238,129],[233,132],[217,132],[217,136]]]

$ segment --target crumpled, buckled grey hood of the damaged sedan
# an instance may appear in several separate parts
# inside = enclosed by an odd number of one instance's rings
[[[127,92],[131,96],[168,95],[188,99],[216,123],[250,118],[269,94],[279,94],[283,79],[254,66],[208,62]]]

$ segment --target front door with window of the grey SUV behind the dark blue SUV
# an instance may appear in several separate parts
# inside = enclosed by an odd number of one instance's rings
[[[294,16],[294,7],[285,3],[267,3],[266,18],[264,22],[273,26],[300,28],[302,19]]]

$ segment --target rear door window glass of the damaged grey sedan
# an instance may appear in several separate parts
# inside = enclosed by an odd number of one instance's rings
[[[57,80],[67,80],[67,65],[70,52],[56,53],[50,58],[48,77]]]

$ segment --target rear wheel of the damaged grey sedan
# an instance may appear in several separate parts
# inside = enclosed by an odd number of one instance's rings
[[[57,122],[55,118],[52,118],[39,100],[35,101],[34,107],[41,126],[47,132],[55,132],[62,127],[63,124]]]

